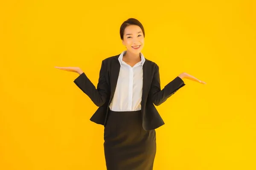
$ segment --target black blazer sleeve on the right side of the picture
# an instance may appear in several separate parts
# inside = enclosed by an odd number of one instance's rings
[[[175,94],[177,90],[186,85],[180,77],[176,77],[171,82],[169,82],[163,90],[160,86],[160,74],[159,66],[156,65],[154,76],[151,83],[151,88],[149,91],[149,96],[154,105],[158,106],[165,102],[170,96]]]

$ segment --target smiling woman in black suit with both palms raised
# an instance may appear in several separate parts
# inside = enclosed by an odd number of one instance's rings
[[[206,83],[183,72],[161,90],[158,65],[141,53],[143,25],[134,18],[126,20],[120,37],[127,50],[102,61],[97,88],[79,67],[55,68],[78,73],[74,83],[99,107],[90,120],[105,127],[107,169],[152,170],[155,129],[164,125],[154,105],[183,87],[182,79]]]

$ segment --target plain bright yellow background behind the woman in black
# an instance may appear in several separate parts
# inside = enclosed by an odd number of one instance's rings
[[[130,17],[145,28],[143,54],[161,87],[186,86],[157,107],[154,170],[256,169],[255,0],[1,0],[0,169],[105,170],[97,107],[74,83],[97,84],[102,59],[125,47]]]

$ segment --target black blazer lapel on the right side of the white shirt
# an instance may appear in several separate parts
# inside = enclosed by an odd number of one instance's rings
[[[142,88],[142,101],[141,106],[143,108],[143,105],[145,104],[145,99],[148,97],[148,91],[150,88],[150,81],[151,81],[151,65],[150,62],[148,62],[147,59],[145,59],[145,62],[143,64],[143,88]]]

